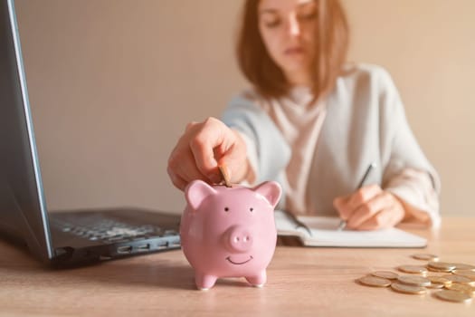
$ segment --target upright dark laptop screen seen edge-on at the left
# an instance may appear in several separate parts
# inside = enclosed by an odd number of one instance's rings
[[[0,0],[0,232],[52,258],[13,0]]]

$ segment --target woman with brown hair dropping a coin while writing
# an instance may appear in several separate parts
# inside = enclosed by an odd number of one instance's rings
[[[168,160],[180,189],[278,180],[280,208],[341,216],[374,230],[440,224],[440,181],[423,155],[391,77],[346,63],[347,18],[337,0],[245,2],[237,55],[252,89],[222,120],[192,122]],[[368,169],[371,173],[362,179]]]

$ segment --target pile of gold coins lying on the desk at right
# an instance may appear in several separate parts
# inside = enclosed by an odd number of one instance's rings
[[[426,265],[399,265],[397,270],[375,271],[356,280],[373,287],[391,287],[398,293],[424,294],[433,290],[433,297],[450,302],[470,302],[475,297],[475,265],[440,262],[439,256],[412,255],[429,261]],[[435,275],[438,274],[438,275]]]

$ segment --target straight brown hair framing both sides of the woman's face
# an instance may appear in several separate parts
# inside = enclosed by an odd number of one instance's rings
[[[290,90],[284,73],[267,53],[259,31],[260,0],[246,0],[238,33],[236,53],[244,76],[264,97],[281,97]],[[346,62],[349,30],[347,16],[338,0],[315,0],[318,5],[316,57],[313,61],[315,100],[331,91]]]

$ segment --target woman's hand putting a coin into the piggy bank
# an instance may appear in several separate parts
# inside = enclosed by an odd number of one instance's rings
[[[187,124],[168,158],[166,170],[173,184],[184,190],[195,179],[220,183],[221,164],[226,165],[231,182],[241,181],[248,172],[246,146],[237,131],[221,120],[208,118]]]

